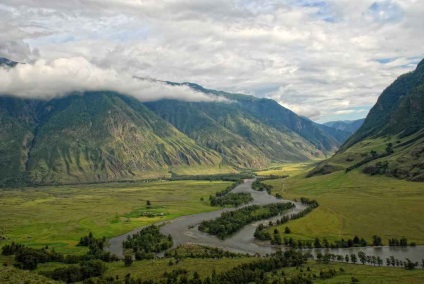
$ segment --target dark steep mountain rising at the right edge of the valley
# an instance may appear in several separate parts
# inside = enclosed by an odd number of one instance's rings
[[[383,91],[364,124],[310,176],[356,168],[424,181],[424,60]]]

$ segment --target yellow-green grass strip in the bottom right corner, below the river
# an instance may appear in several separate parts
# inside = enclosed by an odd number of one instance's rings
[[[310,272],[307,271],[307,267],[310,268]],[[344,272],[341,272],[340,268]],[[357,278],[359,283],[424,283],[424,271],[422,269],[406,270],[398,267],[377,267],[336,262],[321,264],[315,261],[309,261],[302,269],[306,275],[311,273],[318,277],[321,270],[328,271],[329,269],[335,269],[337,271],[335,277],[325,280],[318,278],[314,280],[314,283],[352,283],[352,277]],[[284,268],[282,270],[287,278],[296,276],[300,272],[296,268]],[[273,278],[281,278],[282,270],[278,271],[278,277]]]

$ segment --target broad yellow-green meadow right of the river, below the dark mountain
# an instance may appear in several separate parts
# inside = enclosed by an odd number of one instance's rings
[[[309,215],[277,226],[280,234],[288,226],[294,239],[327,238],[330,241],[355,235],[371,240],[407,237],[424,244],[424,184],[368,176],[358,170],[305,178],[304,171],[284,180],[268,180],[273,194],[286,199],[309,197],[320,206]],[[275,227],[270,228],[270,232]]]

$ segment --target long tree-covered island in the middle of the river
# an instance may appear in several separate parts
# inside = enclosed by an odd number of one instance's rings
[[[199,230],[225,239],[249,223],[277,216],[293,207],[294,204],[291,202],[247,206],[238,210],[223,212],[221,217],[215,220],[203,221],[199,225]]]

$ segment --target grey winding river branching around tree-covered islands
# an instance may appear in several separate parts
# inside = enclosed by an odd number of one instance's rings
[[[254,179],[245,180],[244,183],[238,185],[232,190],[233,193],[237,192],[247,192],[251,193],[253,201],[248,205],[266,205],[277,202],[293,202],[290,200],[276,199],[275,197],[269,195],[266,191],[256,191],[252,189],[252,183]],[[300,202],[293,202],[296,207],[289,210],[285,214],[293,214],[302,211],[306,208],[305,205]],[[245,206],[248,206],[245,205]],[[240,206],[239,208],[241,208]],[[220,240],[213,235],[203,233],[198,230],[198,225],[204,220],[212,220],[221,215],[222,212],[236,210],[236,208],[225,208],[216,210],[213,212],[200,213],[188,216],[182,216],[170,221],[159,222],[156,225],[161,225],[161,232],[165,235],[171,234],[174,240],[174,246],[176,247],[180,244],[199,244],[206,245],[211,247],[218,247],[232,252],[239,253],[248,253],[248,254],[259,254],[266,255],[273,253],[280,246],[272,246],[268,243],[258,243],[255,242],[253,234],[256,227],[259,224],[265,224],[269,221],[275,222],[277,219],[280,219],[282,215],[269,218],[266,220],[261,220],[254,222],[250,225],[245,226],[239,232],[235,233],[231,237]],[[109,240],[109,246],[107,248],[113,254],[116,254],[118,257],[123,258],[123,247],[122,242],[127,238],[128,235],[139,232],[141,228],[137,228],[131,232],[128,232],[124,235],[114,237]],[[421,263],[421,259],[424,259],[424,246],[416,247],[361,247],[361,248],[344,248],[344,249],[312,249],[310,250],[312,254],[317,252],[325,253],[330,252],[334,254],[357,254],[359,251],[365,252],[367,255],[380,256],[383,260],[387,257],[394,256],[397,259],[406,259],[409,258],[412,261],[418,261]],[[159,254],[158,256],[162,256]]]

